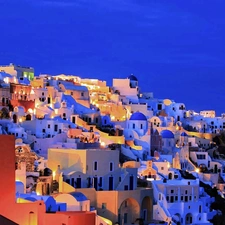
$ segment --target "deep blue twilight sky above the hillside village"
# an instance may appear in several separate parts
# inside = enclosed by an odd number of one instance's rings
[[[225,112],[224,0],[0,0],[0,64],[106,80]]]

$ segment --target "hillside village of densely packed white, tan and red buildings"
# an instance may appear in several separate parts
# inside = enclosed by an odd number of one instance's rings
[[[0,66],[0,221],[219,224],[225,114],[140,86]]]

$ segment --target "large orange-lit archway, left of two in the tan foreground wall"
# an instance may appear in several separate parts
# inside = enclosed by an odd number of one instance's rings
[[[140,218],[140,206],[135,199],[127,198],[119,207],[119,224],[132,224],[137,218]]]

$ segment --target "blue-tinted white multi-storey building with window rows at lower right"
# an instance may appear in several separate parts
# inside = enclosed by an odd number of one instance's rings
[[[154,180],[153,218],[168,224],[208,224],[213,199],[199,188],[199,180]],[[202,197],[204,196],[204,197]]]

